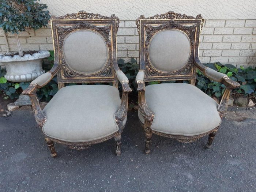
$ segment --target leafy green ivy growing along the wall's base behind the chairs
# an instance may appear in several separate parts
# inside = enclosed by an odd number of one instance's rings
[[[50,51],[50,57],[48,57],[48,61],[50,64],[43,64],[43,68],[45,71],[49,71],[52,68],[54,61],[53,51]],[[48,62],[48,63],[49,63]],[[226,64],[223,65],[221,63],[209,63],[205,64],[207,67],[210,67],[216,71],[222,72],[223,74],[227,74],[231,79],[239,82],[241,84],[240,88],[232,90],[232,94],[235,96],[244,96],[244,97],[256,97],[256,69],[252,67],[240,67],[236,68],[233,65]],[[123,59],[118,60],[119,68],[124,72],[124,74],[129,79],[129,86],[133,90],[133,94],[137,92],[137,85],[135,82],[136,75],[138,74],[139,65],[136,63],[135,59],[131,59],[131,62],[125,63]],[[8,82],[4,78],[5,69],[0,70],[0,93],[3,98],[18,98],[19,94],[22,93],[22,90],[26,89],[30,82],[21,82],[21,83],[12,83]],[[189,83],[187,80],[177,81],[183,83]],[[158,84],[158,83],[175,83],[175,81],[168,82],[147,82],[146,84]],[[68,85],[74,85],[75,83],[69,83]],[[86,83],[80,83],[86,84]],[[206,76],[202,74],[202,72],[197,71],[196,75],[196,86],[202,90],[207,95],[215,96],[220,99],[222,96],[225,85],[222,83],[214,82],[208,79]],[[119,83],[119,89],[121,89],[121,85]],[[55,76],[47,85],[38,89],[37,96],[42,101],[50,101],[50,99],[55,95],[58,91],[57,77]]]

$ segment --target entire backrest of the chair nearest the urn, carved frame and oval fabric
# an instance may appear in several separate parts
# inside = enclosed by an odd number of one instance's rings
[[[52,17],[54,57],[59,61],[58,83],[117,83],[116,34],[120,20],[80,11]]]

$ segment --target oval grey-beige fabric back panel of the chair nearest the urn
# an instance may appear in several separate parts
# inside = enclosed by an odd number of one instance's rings
[[[104,37],[96,31],[76,30],[65,37],[63,57],[73,71],[90,74],[108,62],[109,50]]]

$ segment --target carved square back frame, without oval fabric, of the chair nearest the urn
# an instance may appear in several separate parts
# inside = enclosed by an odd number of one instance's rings
[[[57,72],[58,83],[112,82],[113,84],[117,84],[118,80],[114,69],[118,68],[116,35],[120,20],[115,15],[107,17],[99,14],[90,15],[87,12],[84,12],[85,15],[79,15],[79,13],[61,16],[59,18],[53,17],[50,20],[54,58],[56,61],[59,61],[59,71]],[[108,45],[109,58],[106,65],[100,71],[91,74],[79,73],[73,71],[65,63],[62,54],[63,40],[69,33],[79,29],[97,31],[104,37]],[[109,39],[109,35],[111,39]]]

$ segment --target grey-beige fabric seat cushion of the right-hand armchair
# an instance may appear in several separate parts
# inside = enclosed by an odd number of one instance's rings
[[[218,103],[187,83],[161,83],[146,86],[145,98],[154,113],[151,129],[170,135],[194,136],[221,124]],[[140,121],[144,123],[139,113]]]

